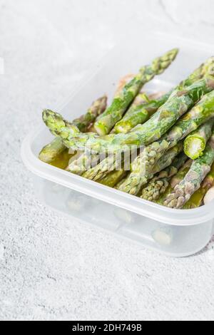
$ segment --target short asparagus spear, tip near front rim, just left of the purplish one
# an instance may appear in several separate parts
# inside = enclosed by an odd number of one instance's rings
[[[141,198],[149,201],[158,200],[167,189],[170,179],[178,173],[178,170],[184,165],[186,160],[188,160],[188,157],[185,153],[180,153],[168,168],[153,177],[147,187],[143,188]]]

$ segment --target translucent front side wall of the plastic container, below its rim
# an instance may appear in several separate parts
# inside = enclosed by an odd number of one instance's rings
[[[213,220],[189,227],[165,225],[41,177],[34,181],[36,194],[54,210],[172,257],[195,254],[212,237]]]

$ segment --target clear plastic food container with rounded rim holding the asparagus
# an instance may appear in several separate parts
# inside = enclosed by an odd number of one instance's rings
[[[139,37],[129,39],[128,45],[116,46],[106,55],[58,112],[72,120],[103,93],[111,99],[121,76],[136,73],[143,64],[174,47],[180,47],[178,58],[163,75],[146,85],[146,91],[168,91],[213,54],[213,47],[205,43],[163,33],[143,36],[142,43]],[[26,167],[35,175],[35,191],[47,205],[172,257],[195,254],[209,242],[213,202],[195,210],[172,210],[54,168],[37,158],[51,139],[42,125],[26,137],[21,148]]]

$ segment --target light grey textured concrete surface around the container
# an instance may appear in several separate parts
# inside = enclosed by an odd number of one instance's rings
[[[213,244],[168,259],[34,196],[21,140],[134,24],[213,43],[212,0],[0,0],[0,319],[214,319]],[[154,46],[155,47],[155,46]]]

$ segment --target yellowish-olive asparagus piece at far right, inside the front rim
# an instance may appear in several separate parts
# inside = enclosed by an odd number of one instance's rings
[[[200,207],[203,204],[203,198],[207,194],[208,190],[214,185],[214,164],[211,167],[210,173],[205,177],[202,185],[200,186],[199,190],[196,191],[191,197],[188,202],[183,206],[184,210],[190,210],[193,208]]]

